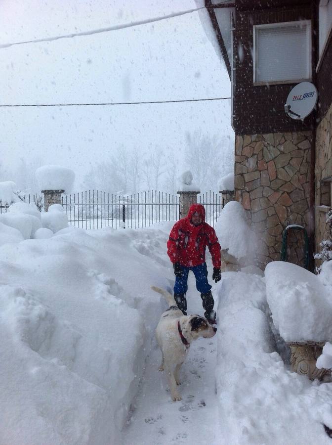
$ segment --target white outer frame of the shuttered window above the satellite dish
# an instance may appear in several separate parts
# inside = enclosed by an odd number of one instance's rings
[[[264,28],[287,28],[288,26],[298,26],[306,27],[306,46],[308,50],[308,66],[307,66],[307,77],[299,79],[285,79],[285,80],[273,80],[273,81],[256,81],[256,63],[259,60],[258,48],[256,47],[256,30]],[[297,84],[300,82],[311,82],[312,81],[312,49],[311,49],[311,20],[293,20],[290,22],[277,22],[277,23],[264,23],[260,25],[253,25],[252,30],[252,79],[254,86],[261,85],[281,85],[281,84]]]

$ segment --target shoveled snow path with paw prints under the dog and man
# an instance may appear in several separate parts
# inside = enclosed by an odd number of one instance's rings
[[[211,280],[210,277],[209,271]],[[188,284],[188,313],[203,314],[192,273]],[[191,344],[180,374],[182,401],[177,402],[170,399],[166,376],[158,372],[161,353],[155,343],[124,429],[122,445],[222,444],[215,391],[217,335],[218,332],[211,339],[199,339]]]

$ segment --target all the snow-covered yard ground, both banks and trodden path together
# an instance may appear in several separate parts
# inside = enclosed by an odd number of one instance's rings
[[[171,225],[23,239],[0,224],[1,445],[331,442],[332,385],[282,360],[266,299],[277,284],[259,275],[213,285],[217,334],[191,346],[170,400],[154,338],[166,302],[150,286],[173,285]],[[327,267],[315,279],[331,295]],[[202,314],[193,275],[187,298]]]

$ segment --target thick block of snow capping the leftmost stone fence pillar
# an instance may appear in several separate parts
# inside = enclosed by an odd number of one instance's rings
[[[72,190],[75,173],[59,165],[44,165],[36,170],[36,179],[41,190],[64,190],[68,194]]]

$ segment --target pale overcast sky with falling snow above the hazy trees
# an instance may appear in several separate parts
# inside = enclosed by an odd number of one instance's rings
[[[0,46],[160,18],[195,9],[199,3],[2,0]],[[0,104],[230,96],[226,69],[207,38],[199,12],[122,30],[0,47],[0,53]],[[179,155],[186,133],[197,129],[233,137],[230,100],[1,107],[1,160],[10,169],[20,157],[70,167],[79,187],[89,166],[107,160],[109,153],[124,146],[144,152],[157,145],[171,147]]]

